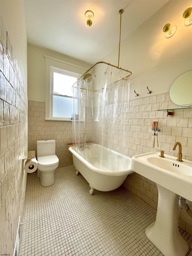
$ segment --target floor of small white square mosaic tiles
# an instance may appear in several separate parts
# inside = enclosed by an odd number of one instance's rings
[[[124,187],[94,190],[74,166],[59,168],[55,184],[27,179],[20,256],[150,256],[163,254],[147,239],[156,210]],[[180,230],[190,244],[192,237]]]

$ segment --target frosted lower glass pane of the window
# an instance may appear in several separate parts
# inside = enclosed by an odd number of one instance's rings
[[[72,98],[53,95],[53,117],[72,118]]]

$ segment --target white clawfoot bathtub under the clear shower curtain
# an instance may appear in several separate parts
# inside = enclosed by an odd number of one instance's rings
[[[75,146],[69,147],[73,154],[73,164],[76,168],[76,175],[80,172],[91,187],[89,193],[92,195],[93,189],[99,191],[111,191],[122,185],[131,170],[131,158],[116,151],[110,152],[106,147],[99,144],[91,144],[82,149],[85,158]],[[100,160],[100,152],[102,159]],[[110,157],[109,157],[110,155]]]

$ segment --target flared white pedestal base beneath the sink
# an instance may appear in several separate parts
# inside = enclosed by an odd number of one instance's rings
[[[157,187],[156,220],[146,228],[146,236],[165,256],[185,256],[189,245],[178,229],[179,195],[158,184]]]

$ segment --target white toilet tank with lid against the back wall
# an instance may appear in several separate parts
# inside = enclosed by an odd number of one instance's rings
[[[37,157],[55,155],[55,140],[38,140]]]

